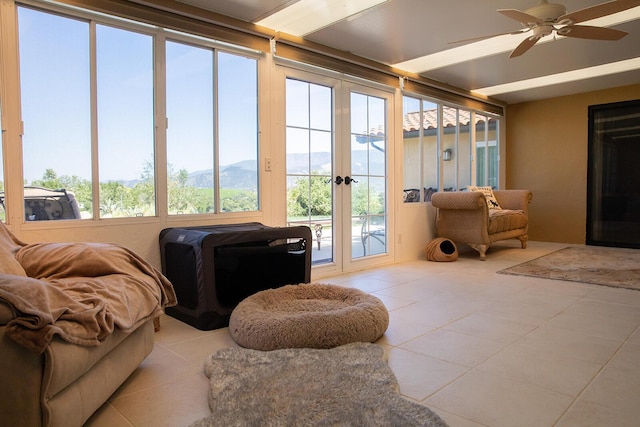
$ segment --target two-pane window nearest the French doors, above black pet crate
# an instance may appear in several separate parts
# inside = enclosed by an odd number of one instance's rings
[[[257,61],[166,47],[169,213],[258,209]]]

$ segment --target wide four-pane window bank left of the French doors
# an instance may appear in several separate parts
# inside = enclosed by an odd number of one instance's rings
[[[25,219],[155,216],[165,173],[170,215],[257,210],[257,60],[97,19],[18,8]]]

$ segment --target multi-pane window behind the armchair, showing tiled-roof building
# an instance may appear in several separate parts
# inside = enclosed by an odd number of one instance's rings
[[[436,191],[468,185],[497,188],[497,123],[474,111],[403,97],[404,201],[430,201]]]

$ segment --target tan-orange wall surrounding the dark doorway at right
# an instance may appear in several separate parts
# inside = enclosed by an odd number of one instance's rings
[[[530,240],[585,243],[588,107],[640,98],[640,84],[507,107],[506,188],[533,192]]]

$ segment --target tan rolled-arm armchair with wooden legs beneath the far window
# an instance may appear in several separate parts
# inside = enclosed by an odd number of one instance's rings
[[[493,242],[518,239],[527,247],[529,230],[529,190],[493,190],[502,209],[489,209],[480,191],[438,192],[431,197],[438,209],[436,230],[438,237],[466,243],[486,260],[487,249]]]

